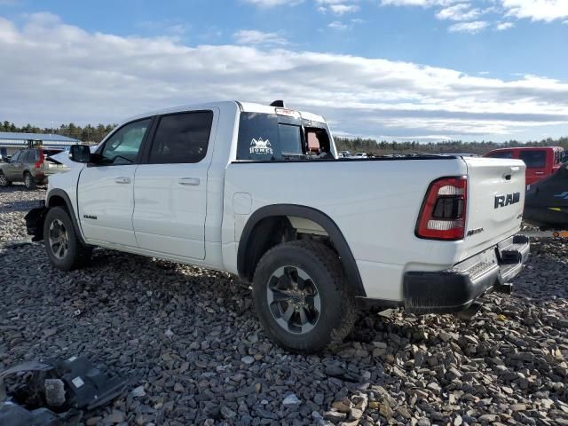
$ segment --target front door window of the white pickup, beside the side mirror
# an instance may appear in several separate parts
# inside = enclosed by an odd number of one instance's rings
[[[152,123],[151,118],[130,122],[106,141],[101,156],[101,164],[105,165],[124,165],[136,162],[138,151],[142,145],[142,140]]]

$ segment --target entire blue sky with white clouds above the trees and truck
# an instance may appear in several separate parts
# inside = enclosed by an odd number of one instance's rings
[[[284,98],[349,136],[564,136],[566,45],[568,0],[0,0],[0,119]]]

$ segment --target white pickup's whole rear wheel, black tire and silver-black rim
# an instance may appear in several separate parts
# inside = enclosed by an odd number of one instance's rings
[[[289,351],[340,343],[357,318],[339,257],[316,241],[290,241],[267,251],[256,266],[253,297],[266,334]]]

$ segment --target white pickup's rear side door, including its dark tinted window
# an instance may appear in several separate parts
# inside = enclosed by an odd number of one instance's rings
[[[138,247],[205,258],[207,173],[214,122],[217,112],[213,111],[159,118],[147,161],[136,170],[132,221]]]

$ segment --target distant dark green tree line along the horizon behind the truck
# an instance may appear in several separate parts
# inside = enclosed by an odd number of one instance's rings
[[[106,134],[116,127],[116,124],[97,125],[87,124],[78,126],[73,122],[61,124],[58,128],[39,128],[27,124],[18,127],[13,122],[0,122],[0,131],[14,131],[26,133],[54,133],[67,136],[69,138],[80,139],[83,142],[99,143]],[[562,146],[568,151],[568,137],[546,138],[542,140],[531,140],[521,142],[511,139],[504,143],[482,140],[481,142],[463,142],[461,140],[448,140],[440,142],[419,143],[418,141],[397,142],[396,140],[377,141],[373,138],[340,138],[335,137],[335,145],[339,151],[351,151],[355,153],[367,154],[440,154],[440,153],[469,153],[485,154],[495,148],[512,146]]]

